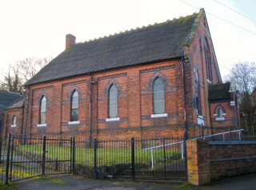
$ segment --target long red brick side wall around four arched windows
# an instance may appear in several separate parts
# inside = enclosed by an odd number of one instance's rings
[[[162,77],[165,83],[166,117],[151,117],[156,77]],[[106,121],[108,90],[113,84],[118,88],[119,118]],[[79,123],[70,125],[70,97],[74,90],[79,95]],[[32,85],[26,89],[28,92],[29,106],[23,123],[27,133],[123,138],[182,135],[185,129],[181,59]],[[46,126],[38,126],[42,96],[47,102]]]

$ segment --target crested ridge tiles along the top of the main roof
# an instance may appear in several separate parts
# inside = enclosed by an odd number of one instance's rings
[[[169,23],[169,22],[178,22],[179,20],[181,19],[184,19],[184,18],[187,18],[187,17],[190,17],[192,15],[195,15],[195,14],[200,14],[201,10],[198,12],[198,13],[193,13],[193,14],[188,14],[186,16],[180,16],[179,18],[173,18],[172,20],[170,19],[166,19],[165,22],[154,22],[154,24],[151,24],[149,23],[147,26],[143,25],[143,26],[137,26],[135,28],[130,28],[130,29],[126,29],[124,31],[119,31],[119,32],[115,32],[114,34],[107,34],[105,36],[100,36],[100,37],[96,37],[96,38],[91,38],[89,40],[86,40],[84,42],[78,42],[74,45],[81,45],[81,44],[85,44],[87,42],[97,42],[97,41],[100,41],[100,40],[104,40],[106,38],[113,38],[113,37],[117,37],[118,35],[121,35],[121,34],[130,34],[132,32],[137,32],[139,30],[145,30],[145,29],[148,29],[150,27],[154,27],[154,26],[159,26],[159,25],[163,25],[163,24],[166,24],[166,23]]]

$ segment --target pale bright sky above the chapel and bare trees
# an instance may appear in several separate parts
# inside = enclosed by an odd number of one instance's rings
[[[8,0],[0,2],[0,74],[26,57],[57,57],[66,34],[85,42],[200,8],[222,77],[238,61],[256,61],[256,0]]]

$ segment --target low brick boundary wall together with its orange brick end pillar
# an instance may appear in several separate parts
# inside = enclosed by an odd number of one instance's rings
[[[256,172],[256,141],[187,141],[188,180],[202,185]]]

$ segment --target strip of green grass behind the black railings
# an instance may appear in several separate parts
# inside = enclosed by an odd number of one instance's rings
[[[38,157],[42,157],[42,145],[40,144],[26,144],[19,145],[18,150],[20,152],[26,152],[27,156],[37,154]],[[46,158],[49,160],[70,160],[70,147],[60,145],[47,145],[46,146]],[[29,152],[29,153],[28,153]],[[172,161],[181,160],[182,152],[180,150],[170,150],[166,148],[166,151],[162,148],[154,149],[154,162],[170,163]],[[97,163],[101,165],[122,164],[131,163],[131,149],[130,148],[97,148]],[[150,163],[151,162],[151,150],[143,151],[141,148],[134,149],[135,163]],[[75,161],[76,164],[94,164],[94,148],[75,148]]]

